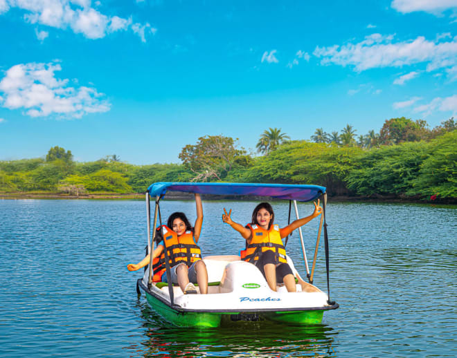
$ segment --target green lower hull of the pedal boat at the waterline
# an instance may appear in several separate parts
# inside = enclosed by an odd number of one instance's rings
[[[151,294],[146,293],[146,299],[159,316],[178,327],[216,328],[221,326],[221,323],[230,322],[230,315],[240,314],[240,312],[179,312],[165,305]],[[258,316],[260,319],[292,326],[305,326],[321,323],[323,310],[262,312]]]

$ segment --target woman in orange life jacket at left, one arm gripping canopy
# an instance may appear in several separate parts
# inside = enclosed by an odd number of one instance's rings
[[[208,272],[201,260],[201,251],[197,242],[203,224],[203,208],[199,194],[195,194],[197,220],[191,227],[188,218],[181,212],[175,212],[168,218],[167,226],[157,228],[156,239],[161,244],[152,252],[154,281],[167,282],[165,270],[165,246],[171,267],[172,283],[177,283],[184,294],[197,293],[193,283],[198,283],[200,293],[208,293]],[[163,241],[162,241],[163,240]],[[129,263],[127,270],[136,271],[150,263],[147,255],[139,263]]]

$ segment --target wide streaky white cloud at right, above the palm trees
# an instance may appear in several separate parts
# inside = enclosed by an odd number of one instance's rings
[[[393,43],[393,35],[373,34],[357,44],[317,46],[313,55],[321,64],[354,66],[355,70],[401,67],[426,62],[427,71],[457,64],[457,37],[446,42],[428,41],[420,36],[409,41]]]

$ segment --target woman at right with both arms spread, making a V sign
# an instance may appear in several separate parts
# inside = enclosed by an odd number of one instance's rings
[[[322,207],[319,206],[319,200],[317,200],[317,205],[314,202],[314,212],[310,216],[295,220],[280,229],[278,225],[274,224],[274,211],[271,205],[268,202],[261,202],[252,213],[251,223],[245,227],[231,219],[231,209],[227,214],[224,208],[222,221],[246,239],[247,247],[242,251],[241,258],[258,267],[271,290],[276,291],[276,283],[284,283],[287,292],[296,292],[295,277],[287,264],[286,252],[281,239],[321,213]],[[314,291],[314,286],[305,283],[303,280],[299,281],[301,281],[303,288],[307,288],[307,291]],[[305,287],[303,283],[305,283]]]

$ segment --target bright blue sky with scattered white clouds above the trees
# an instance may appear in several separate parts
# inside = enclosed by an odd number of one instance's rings
[[[0,160],[179,162],[203,135],[457,114],[457,0],[0,0]]]

